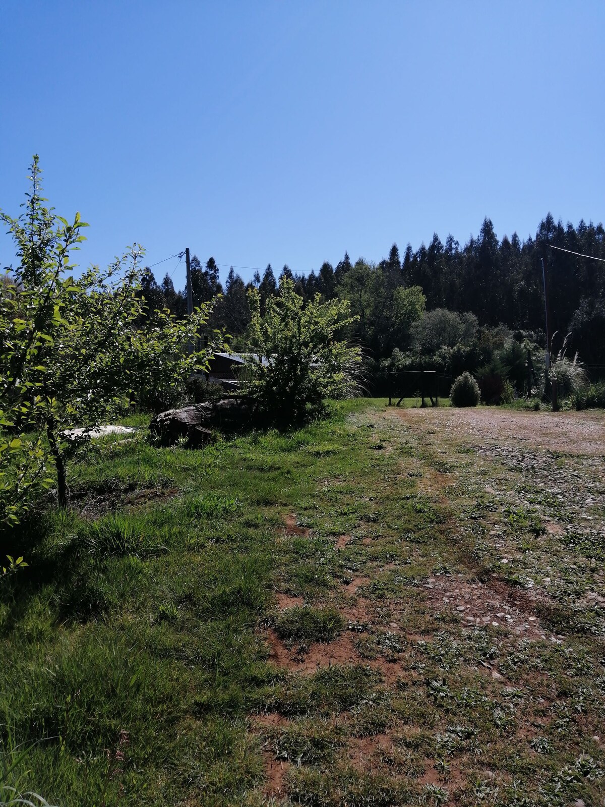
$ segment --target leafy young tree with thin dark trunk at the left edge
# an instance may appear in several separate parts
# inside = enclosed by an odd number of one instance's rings
[[[31,191],[18,218],[0,211],[15,240],[19,266],[0,289],[0,525],[19,522],[44,488],[68,500],[66,463],[86,433],[119,416],[132,391],[166,390],[206,370],[223,336],[187,351],[211,303],[177,320],[156,311],[143,326],[144,267],[135,245],[106,270],[73,276],[70,255],[87,225],[44,207],[40,168],[31,165]],[[79,439],[65,432],[84,427]]]

